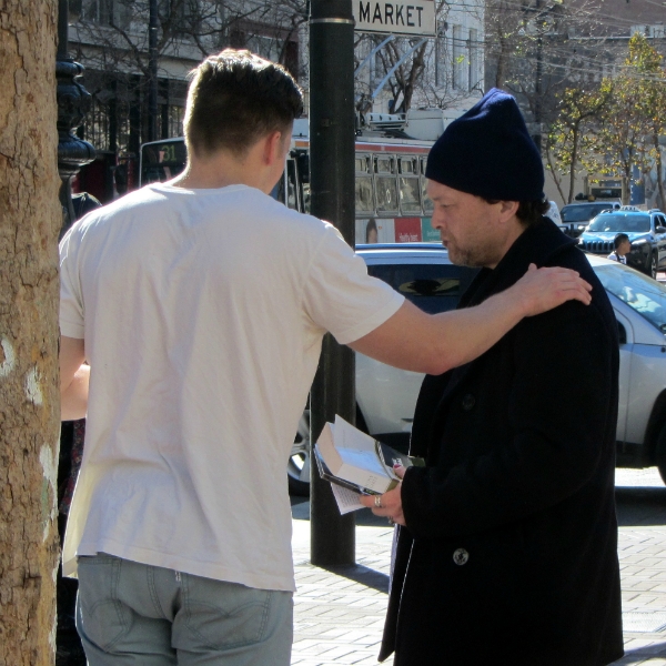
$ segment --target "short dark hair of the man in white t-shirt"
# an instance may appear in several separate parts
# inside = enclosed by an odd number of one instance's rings
[[[303,93],[280,64],[250,51],[225,49],[190,72],[184,130],[199,158],[220,149],[243,155],[303,112]]]

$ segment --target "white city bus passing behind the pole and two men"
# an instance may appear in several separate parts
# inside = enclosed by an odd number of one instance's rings
[[[356,138],[356,243],[440,242],[431,226],[433,202],[425,190],[425,163],[433,140],[393,138],[367,131]],[[141,147],[140,184],[163,182],[181,173],[184,139]],[[273,196],[291,209],[310,212],[310,139],[307,120],[296,120],[284,174]]]

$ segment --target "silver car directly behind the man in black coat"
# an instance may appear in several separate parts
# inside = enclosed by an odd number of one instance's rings
[[[369,272],[423,310],[457,304],[475,271],[453,265],[434,243],[362,245]],[[657,465],[666,483],[666,286],[632,268],[587,255],[609,294],[619,330],[619,413],[617,465]],[[356,354],[357,425],[404,450],[423,375],[390,367]],[[303,413],[289,463],[290,490],[310,484],[310,414]]]

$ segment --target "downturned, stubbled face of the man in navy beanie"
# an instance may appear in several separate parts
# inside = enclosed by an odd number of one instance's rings
[[[500,204],[454,190],[436,181],[427,182],[434,202],[431,224],[440,232],[442,244],[454,264],[494,268],[504,254],[495,221]]]

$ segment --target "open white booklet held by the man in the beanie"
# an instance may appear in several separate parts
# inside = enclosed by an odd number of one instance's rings
[[[335,423],[324,426],[314,445],[314,457],[322,478],[371,495],[381,495],[398,484],[394,464],[403,467],[425,464],[423,458],[377,442],[337,415]]]

